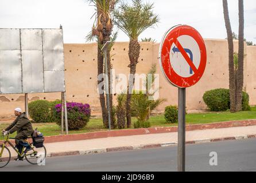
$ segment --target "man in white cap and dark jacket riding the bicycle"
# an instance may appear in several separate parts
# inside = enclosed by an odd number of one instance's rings
[[[28,138],[28,136],[32,136],[32,123],[29,121],[28,117],[26,116],[26,113],[22,113],[21,108],[14,109],[14,114],[15,116],[17,116],[17,118],[13,121],[13,123],[10,126],[3,130],[2,133],[9,134],[17,131],[17,136],[15,136],[15,147],[21,153],[23,146],[25,146],[26,150],[24,153],[26,153],[30,150],[30,146],[25,141],[25,139]],[[23,157],[18,155],[18,157],[15,160],[23,160]]]

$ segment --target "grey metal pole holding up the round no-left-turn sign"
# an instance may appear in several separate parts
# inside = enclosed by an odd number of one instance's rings
[[[185,172],[185,88],[179,87],[178,102],[178,171]]]

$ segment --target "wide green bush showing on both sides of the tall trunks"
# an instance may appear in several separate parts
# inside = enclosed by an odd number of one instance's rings
[[[214,89],[204,93],[203,100],[211,111],[225,111],[230,109],[230,90]],[[251,110],[249,95],[243,92],[242,110]]]

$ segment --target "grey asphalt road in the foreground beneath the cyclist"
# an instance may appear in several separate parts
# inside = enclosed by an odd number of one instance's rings
[[[256,171],[256,138],[187,145],[187,171]],[[45,166],[10,162],[1,171],[176,171],[177,146],[47,158]],[[210,152],[218,166],[210,166]]]

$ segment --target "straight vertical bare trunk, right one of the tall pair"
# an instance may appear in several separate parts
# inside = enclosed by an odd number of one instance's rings
[[[243,91],[243,30],[244,30],[244,18],[243,18],[243,0],[238,0],[239,9],[239,35],[238,35],[238,80],[236,87],[236,111],[242,110],[242,91]]]

